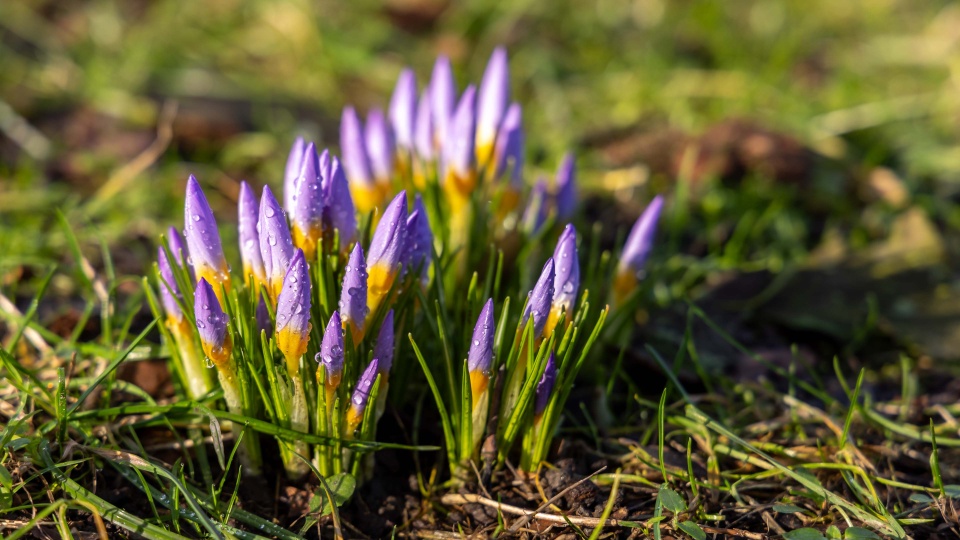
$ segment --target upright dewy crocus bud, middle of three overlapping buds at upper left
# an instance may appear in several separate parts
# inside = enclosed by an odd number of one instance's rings
[[[326,152],[326,151],[324,151]],[[293,202],[293,245],[303,250],[307,260],[317,257],[323,236],[324,193],[320,179],[320,158],[317,147],[310,143],[303,153],[297,196]]]

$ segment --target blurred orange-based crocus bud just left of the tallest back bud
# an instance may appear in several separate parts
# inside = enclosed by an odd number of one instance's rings
[[[476,186],[476,97],[477,91],[472,85],[463,91],[450,124],[450,136],[444,139],[444,187],[456,196],[455,200],[467,200]]]

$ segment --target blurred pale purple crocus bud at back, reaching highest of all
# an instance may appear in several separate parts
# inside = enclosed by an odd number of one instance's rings
[[[507,65],[507,50],[497,47],[490,55],[487,68],[480,81],[480,96],[477,104],[477,163],[480,167],[490,165],[494,143],[500,122],[510,98],[510,68]]]

